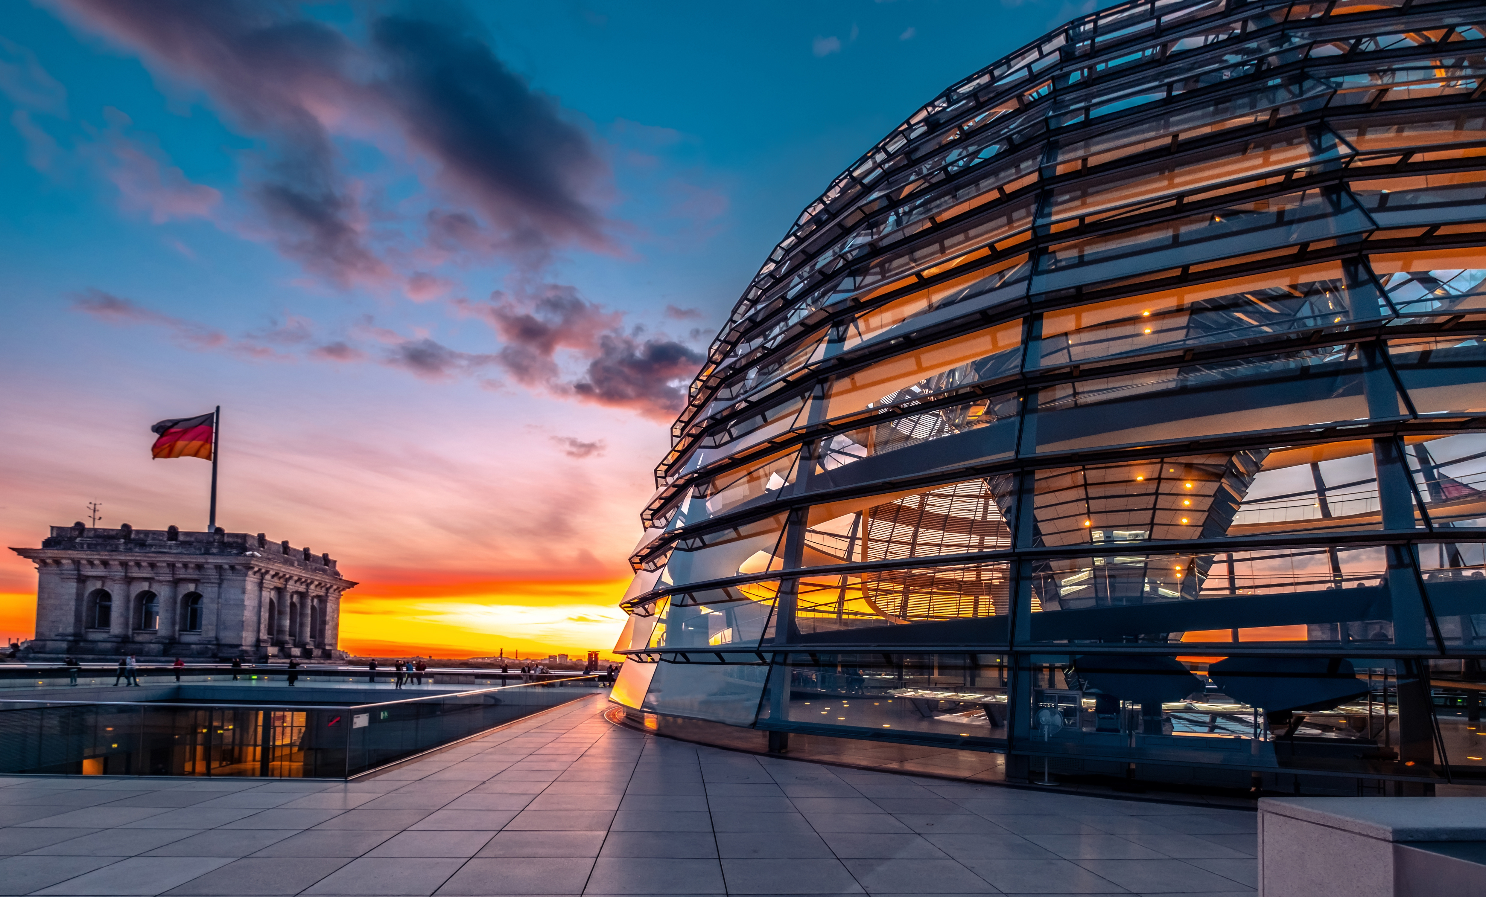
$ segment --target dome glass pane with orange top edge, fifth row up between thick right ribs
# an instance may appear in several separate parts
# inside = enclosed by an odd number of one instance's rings
[[[1375,319],[1378,290],[1355,269],[1327,261],[1048,312],[1039,364],[1086,364]]]

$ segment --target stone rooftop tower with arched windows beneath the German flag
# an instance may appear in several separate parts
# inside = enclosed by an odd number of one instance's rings
[[[328,554],[263,533],[53,526],[36,563],[33,655],[330,658],[340,596]]]

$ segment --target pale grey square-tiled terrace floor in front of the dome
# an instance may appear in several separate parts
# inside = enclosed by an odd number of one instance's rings
[[[349,784],[0,777],[0,894],[1253,894],[1253,812],[758,757],[603,708]]]

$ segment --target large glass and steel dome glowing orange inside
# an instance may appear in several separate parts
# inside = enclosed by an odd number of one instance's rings
[[[1483,92],[1464,0],[1141,0],[947,89],[713,342],[615,699],[1009,777],[1486,780]]]

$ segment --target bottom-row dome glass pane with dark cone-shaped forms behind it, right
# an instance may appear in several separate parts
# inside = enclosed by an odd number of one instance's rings
[[[1184,781],[1202,766],[1204,784],[1247,789],[1254,772],[1427,777],[1434,763],[1428,680],[1394,661],[1086,653],[1027,673],[1037,772],[1123,777],[1134,762],[1138,778]]]

